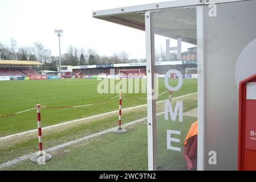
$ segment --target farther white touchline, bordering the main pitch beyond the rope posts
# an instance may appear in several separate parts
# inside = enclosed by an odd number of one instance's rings
[[[197,92],[193,92],[193,93],[186,94],[186,95],[183,95],[183,96],[173,97],[173,99],[177,99],[177,98],[181,98],[181,97],[186,97],[186,96],[191,96],[192,94],[196,94],[196,93],[197,93]],[[161,102],[164,102],[164,101],[165,101],[165,100],[157,101],[156,103],[161,103]],[[138,108],[138,107],[143,107],[143,106],[147,106],[147,104],[143,104],[143,105],[139,105],[139,106],[133,106],[133,107],[128,107],[128,108],[122,109],[122,111],[124,111],[124,110],[130,110],[130,109],[136,109],[136,108]],[[103,115],[108,115],[108,114],[117,113],[117,112],[119,112],[119,110],[114,110],[114,111],[110,111],[110,112],[108,112],[108,113],[102,113],[102,114],[98,114],[98,115],[92,115],[92,116],[86,117],[86,118],[75,119],[75,120],[72,120],[72,121],[67,121],[67,122],[64,122],[64,123],[56,124],[56,125],[51,125],[51,126],[42,127],[42,130],[44,130],[44,129],[50,129],[50,128],[52,128],[52,127],[58,127],[58,126],[62,126],[62,125],[67,125],[67,124],[70,124],[70,123],[79,122],[79,121],[83,121],[83,120],[86,120],[86,119],[101,117],[101,116],[103,116]],[[28,130],[28,131],[24,131],[24,132],[17,133],[17,134],[12,134],[12,135],[7,135],[7,136],[5,136],[5,137],[0,137],[0,140],[8,139],[8,138],[11,138],[11,137],[15,137],[15,136],[19,136],[19,135],[24,135],[24,134],[32,133],[32,132],[36,132],[36,131],[38,131],[38,129],[35,129],[35,130]]]

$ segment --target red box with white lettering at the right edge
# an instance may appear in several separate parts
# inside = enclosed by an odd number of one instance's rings
[[[238,170],[256,170],[256,74],[239,82]]]

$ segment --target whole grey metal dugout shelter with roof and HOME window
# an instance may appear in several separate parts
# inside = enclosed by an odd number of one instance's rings
[[[93,11],[92,16],[145,31],[148,169],[182,169],[181,143],[198,118],[197,169],[236,170],[238,83],[256,73],[256,1],[178,0]],[[196,117],[184,110],[172,121],[157,113],[156,43],[166,45],[167,60],[174,55],[177,61],[182,49],[197,47],[196,96],[186,89],[189,99],[177,98],[183,100],[183,109],[196,99]],[[186,84],[183,80],[180,89]]]

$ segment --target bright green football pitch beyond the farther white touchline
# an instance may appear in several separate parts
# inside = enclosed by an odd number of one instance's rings
[[[143,78],[141,78],[143,79]],[[118,93],[99,94],[97,84],[99,80],[91,79],[62,79],[62,80],[24,80],[0,82],[0,117],[32,109],[36,104],[44,106],[81,106],[75,108],[42,108],[42,127],[54,125],[72,119],[89,117],[91,115],[107,113],[119,109],[119,98],[111,98]],[[118,82],[118,81],[116,81]],[[177,80],[173,80],[175,85]],[[141,84],[140,84],[141,85]],[[166,90],[164,80],[159,80],[159,94]],[[187,79],[172,97],[197,92],[197,80]],[[124,94],[128,97],[146,98],[146,94]],[[147,100],[136,100],[123,97],[123,108],[146,104]],[[169,98],[169,93],[162,94],[157,100]],[[0,118],[0,137],[36,129],[36,111],[15,114]]]

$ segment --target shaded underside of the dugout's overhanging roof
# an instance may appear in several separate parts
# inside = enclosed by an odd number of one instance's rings
[[[156,13],[155,33],[168,38],[181,38],[183,42],[197,45],[196,13],[192,8],[174,8]],[[101,19],[145,31],[144,13],[127,13],[104,16]]]

